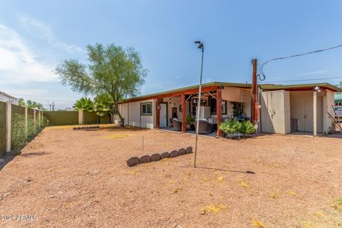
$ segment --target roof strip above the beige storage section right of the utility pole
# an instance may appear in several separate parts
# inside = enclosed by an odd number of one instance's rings
[[[342,92],[341,88],[333,86],[329,83],[310,83],[310,84],[296,84],[296,85],[264,84],[264,85],[260,85],[260,88],[262,90],[312,90],[315,86],[332,90],[333,92]]]

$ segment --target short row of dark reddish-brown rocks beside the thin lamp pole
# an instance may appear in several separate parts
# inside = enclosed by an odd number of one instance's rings
[[[167,157],[177,157],[192,153],[192,147],[180,148],[171,152],[155,153],[153,155],[142,155],[141,157],[130,157],[126,162],[129,167],[139,165],[140,163],[157,162]]]

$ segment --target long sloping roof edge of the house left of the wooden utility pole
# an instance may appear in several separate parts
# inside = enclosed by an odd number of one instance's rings
[[[218,87],[218,86],[230,86],[230,87],[237,87],[237,88],[251,88],[252,84],[248,84],[248,83],[224,83],[224,82],[217,82],[214,81],[212,83],[203,83],[202,84],[202,88],[211,88],[211,87]],[[141,95],[135,98],[130,98],[128,100],[123,101],[122,103],[128,103],[128,102],[133,102],[133,101],[138,101],[138,100],[148,100],[148,99],[152,99],[152,98],[156,98],[158,96],[160,97],[165,97],[167,95],[174,95],[175,93],[184,93],[188,90],[198,90],[199,85],[196,86],[187,86],[187,87],[183,87],[183,88],[176,88],[174,90],[167,90],[164,92],[160,92],[160,93],[152,93],[152,94],[148,94],[148,95]]]

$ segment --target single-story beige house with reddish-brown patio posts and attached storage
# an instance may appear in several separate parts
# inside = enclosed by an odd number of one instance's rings
[[[229,118],[249,120],[251,89],[252,85],[248,83],[204,83],[201,100],[198,100],[199,86],[189,86],[130,98],[119,104],[119,111],[125,125],[170,128],[177,120],[180,130],[185,132],[186,116],[196,118],[199,105],[199,119],[214,125],[217,136],[221,136],[217,125],[222,121]],[[259,131],[287,134],[296,130],[315,133],[314,128],[316,133],[331,130],[327,111],[330,112],[329,107],[334,104],[333,93],[338,91],[341,90],[328,83],[259,86]],[[113,119],[117,123],[120,121],[118,115],[113,115]]]

